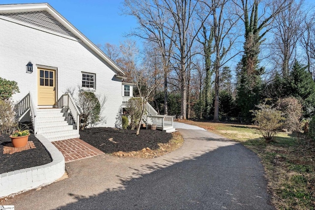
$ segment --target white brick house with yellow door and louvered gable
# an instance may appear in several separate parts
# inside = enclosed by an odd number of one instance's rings
[[[115,126],[125,93],[124,72],[54,8],[48,3],[0,5],[0,28],[0,77],[18,83],[15,102],[31,93],[26,103],[33,102],[38,123],[47,121],[39,119],[47,116],[40,108],[58,106],[69,89],[76,89],[75,98],[80,87],[107,98],[97,126]],[[27,73],[29,61],[32,72]],[[21,120],[33,120],[28,111]]]

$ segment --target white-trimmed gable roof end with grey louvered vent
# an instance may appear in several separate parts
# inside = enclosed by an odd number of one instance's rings
[[[92,41],[48,3],[2,4],[0,5],[0,18],[5,20],[10,18],[34,29],[79,39],[96,55],[112,66],[117,71],[116,73],[125,75],[113,60],[109,59]]]

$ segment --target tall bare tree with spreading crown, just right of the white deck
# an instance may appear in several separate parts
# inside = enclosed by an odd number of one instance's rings
[[[195,0],[125,0],[125,6],[129,8],[125,13],[135,16],[140,24],[133,35],[158,42],[161,52],[166,56],[164,68],[170,68],[172,59],[171,66],[178,70],[182,95],[181,115],[186,119],[187,67],[189,56],[194,56],[189,51],[209,13],[203,13],[202,20],[197,22],[199,2]],[[164,71],[164,86],[167,85],[165,74],[167,71]]]

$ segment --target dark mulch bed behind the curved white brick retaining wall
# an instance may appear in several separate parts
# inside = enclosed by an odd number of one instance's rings
[[[7,134],[0,135],[0,174],[52,162],[50,154],[34,134],[31,133],[29,141],[32,141],[36,148],[3,154],[3,147],[9,146],[11,139]]]

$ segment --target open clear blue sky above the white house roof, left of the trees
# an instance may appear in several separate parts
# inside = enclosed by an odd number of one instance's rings
[[[119,45],[136,21],[120,15],[123,0],[0,0],[0,4],[47,2],[95,44]]]

